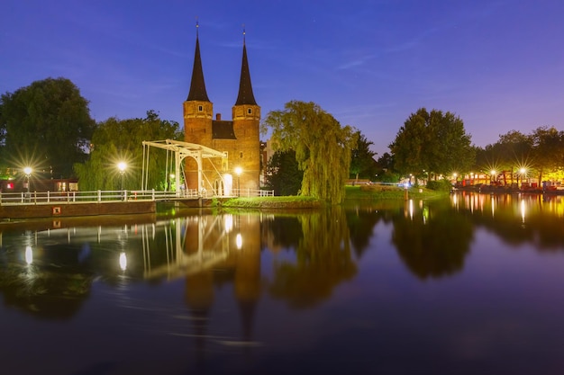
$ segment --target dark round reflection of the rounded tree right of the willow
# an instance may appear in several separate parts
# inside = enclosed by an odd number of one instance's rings
[[[450,210],[448,202],[435,202],[413,219],[396,217],[392,241],[410,271],[426,279],[462,270],[472,237],[468,218]]]

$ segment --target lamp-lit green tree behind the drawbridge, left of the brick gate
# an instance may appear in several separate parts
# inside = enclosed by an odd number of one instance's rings
[[[182,138],[176,121],[160,120],[154,111],[148,111],[145,119],[118,120],[112,117],[101,122],[92,137],[90,158],[86,163],[75,165],[80,190],[141,189],[142,142]],[[151,154],[146,171],[148,189],[163,190],[166,187],[167,157],[166,150],[159,149]],[[127,164],[123,176],[117,169],[121,161]]]

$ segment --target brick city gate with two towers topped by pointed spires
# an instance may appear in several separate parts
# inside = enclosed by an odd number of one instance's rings
[[[203,186],[197,186],[196,161],[187,157],[186,187],[222,191],[229,189],[223,186],[223,183],[231,181],[233,189],[241,188],[241,191],[259,189],[261,159],[259,126],[260,107],[255,101],[250,84],[244,34],[239,94],[232,107],[232,120],[222,120],[220,113],[217,113],[214,119],[214,104],[210,102],[205,90],[196,26],[196,53],[192,80],[190,92],[184,102],[185,141],[227,152],[227,158],[204,160],[202,169],[206,178],[202,182]],[[238,170],[241,171],[239,175],[236,174]],[[225,176],[230,178],[223,178]]]

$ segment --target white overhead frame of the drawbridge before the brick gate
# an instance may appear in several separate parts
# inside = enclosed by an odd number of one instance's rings
[[[167,151],[172,151],[174,152],[174,174],[175,176],[177,176],[175,178],[175,188],[177,192],[180,192],[181,189],[181,183],[180,183],[180,176],[183,176],[184,180],[186,181],[186,176],[184,174],[184,168],[182,168],[182,161],[186,158],[186,157],[192,157],[196,160],[196,164],[197,164],[197,175],[198,175],[198,190],[201,190],[204,185],[203,185],[203,181],[208,180],[207,176],[205,176],[205,174],[203,173],[203,169],[202,169],[202,161],[204,159],[209,159],[209,158],[214,158],[214,157],[221,157],[223,160],[227,160],[227,153],[226,152],[221,152],[221,151],[217,151],[214,150],[214,148],[210,148],[210,147],[205,147],[202,145],[197,145],[196,143],[187,143],[187,142],[182,142],[179,140],[173,140],[173,139],[167,139],[164,141],[147,141],[144,140],[142,142],[143,144],[143,166],[142,166],[142,187],[141,189],[143,190],[147,190],[147,181],[148,181],[148,171],[147,171],[147,167],[146,165],[149,165],[149,149],[148,147],[158,147],[158,148],[162,148],[162,149],[166,149]],[[147,152],[145,152],[145,149],[147,147]],[[167,163],[168,163],[168,157],[167,157]],[[214,163],[210,163],[211,165],[214,166],[215,169],[215,165]],[[222,161],[222,165],[226,165],[226,163],[223,163]],[[167,168],[167,174],[168,174],[168,165],[166,166]],[[181,174],[182,172],[182,174]],[[223,176],[222,174],[215,169],[215,172],[218,174],[219,176],[219,180],[223,181]],[[208,181],[209,183],[209,181]],[[212,183],[209,183],[210,185]],[[216,190],[217,192],[217,190]],[[220,194],[218,194],[220,195]]]

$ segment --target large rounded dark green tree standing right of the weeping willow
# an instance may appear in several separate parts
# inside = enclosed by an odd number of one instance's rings
[[[424,108],[409,116],[389,148],[396,170],[403,174],[468,171],[475,160],[462,120],[450,112]]]

